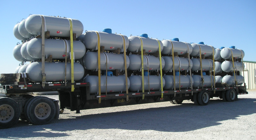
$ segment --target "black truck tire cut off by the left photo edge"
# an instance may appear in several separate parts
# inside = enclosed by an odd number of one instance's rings
[[[0,128],[10,128],[20,119],[20,107],[11,98],[0,98]]]

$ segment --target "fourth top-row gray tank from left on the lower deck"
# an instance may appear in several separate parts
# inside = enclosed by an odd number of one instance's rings
[[[209,45],[202,44],[196,44],[192,43],[191,46],[193,47],[192,53],[190,54],[192,57],[199,56],[199,46],[201,47],[201,54],[204,54],[204,57],[212,56],[212,47]],[[213,47],[213,51],[215,54],[215,48]]]

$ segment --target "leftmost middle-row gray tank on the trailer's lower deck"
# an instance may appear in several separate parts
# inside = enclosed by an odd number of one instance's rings
[[[107,61],[108,60],[108,61]],[[124,67],[124,54],[116,53],[100,53],[100,69],[106,70],[106,62],[108,70],[125,70]],[[130,60],[126,56],[126,66],[129,67]],[[84,67],[88,70],[98,69],[98,52],[88,51],[84,55]]]

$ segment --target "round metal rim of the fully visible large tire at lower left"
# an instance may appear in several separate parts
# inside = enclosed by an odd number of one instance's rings
[[[50,116],[51,108],[47,103],[40,103],[36,105],[35,115],[38,119],[43,120]]]

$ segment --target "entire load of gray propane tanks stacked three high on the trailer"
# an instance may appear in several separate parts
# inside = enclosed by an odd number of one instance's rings
[[[16,68],[15,73],[28,73],[31,82],[42,82],[42,39],[36,38],[42,34],[42,18],[45,20],[45,31],[50,31],[50,38],[45,39],[45,58],[52,57],[52,61],[45,62],[46,82],[63,82],[65,79],[65,57],[70,57],[70,40],[67,39],[70,37],[70,24],[67,18],[31,15],[15,25],[13,33],[17,39],[23,42],[17,44],[13,50],[14,58],[22,62],[22,65]],[[103,29],[103,32],[87,31],[82,34],[83,24],[76,19],[72,19],[72,22],[73,33],[76,33],[76,37],[78,36],[73,42],[74,80],[90,82],[90,93],[92,94],[99,92],[98,49],[101,51],[101,93],[126,91],[126,76],[129,92],[142,91],[143,82],[145,91],[159,91],[161,83],[164,90],[210,88],[214,82],[226,82],[229,86],[234,86],[233,81],[230,82],[230,79],[234,77],[231,73],[234,70],[232,60],[228,60],[230,52],[224,52],[224,50],[232,50],[233,57],[236,58],[241,58],[242,50],[224,48],[220,51],[220,49],[205,45],[203,42],[186,43],[180,42],[178,38],[160,41],[148,38],[147,34],[127,37],[121,34],[112,34],[112,30],[108,28]],[[99,45],[98,40],[100,41]],[[141,50],[141,46],[143,46],[143,50]],[[240,55],[238,51],[240,51]],[[127,54],[126,62],[124,52]],[[215,77],[212,75],[213,55],[216,60],[214,64],[217,76]],[[23,65],[27,61],[30,63]],[[124,74],[125,63],[127,75]],[[243,69],[242,62],[236,61],[234,64],[237,74],[237,71]],[[66,80],[71,81],[69,62],[66,74]],[[222,77],[223,74],[226,74],[227,78],[224,76],[220,80],[221,74]],[[142,77],[144,77],[143,80]],[[243,83],[243,77],[239,74],[236,79],[238,84]]]

